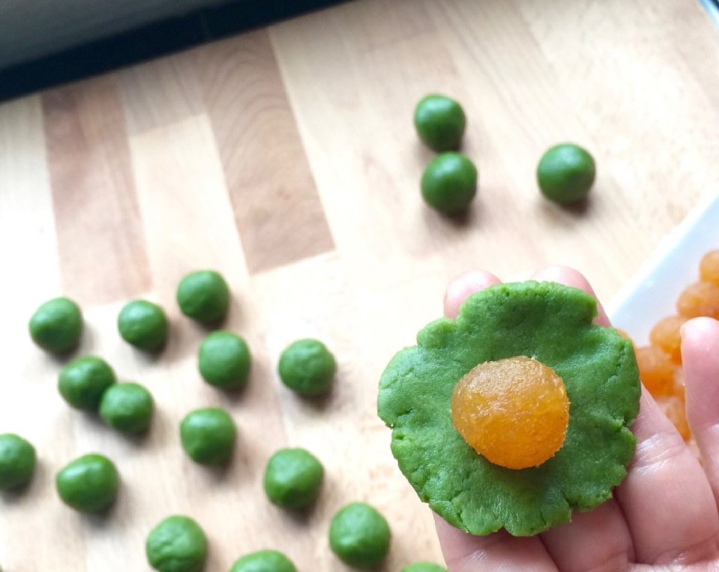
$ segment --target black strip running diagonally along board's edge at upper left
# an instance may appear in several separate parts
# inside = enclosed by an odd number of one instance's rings
[[[237,0],[0,71],[0,101],[339,4],[342,0]]]

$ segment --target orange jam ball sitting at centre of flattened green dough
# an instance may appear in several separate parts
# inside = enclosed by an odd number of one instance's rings
[[[464,441],[490,463],[536,467],[564,442],[567,389],[554,370],[532,358],[487,361],[454,386],[452,421]]]

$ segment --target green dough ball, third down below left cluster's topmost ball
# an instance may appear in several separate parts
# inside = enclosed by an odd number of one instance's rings
[[[222,465],[232,457],[237,428],[224,409],[195,409],[180,424],[180,438],[183,449],[196,463]]]

